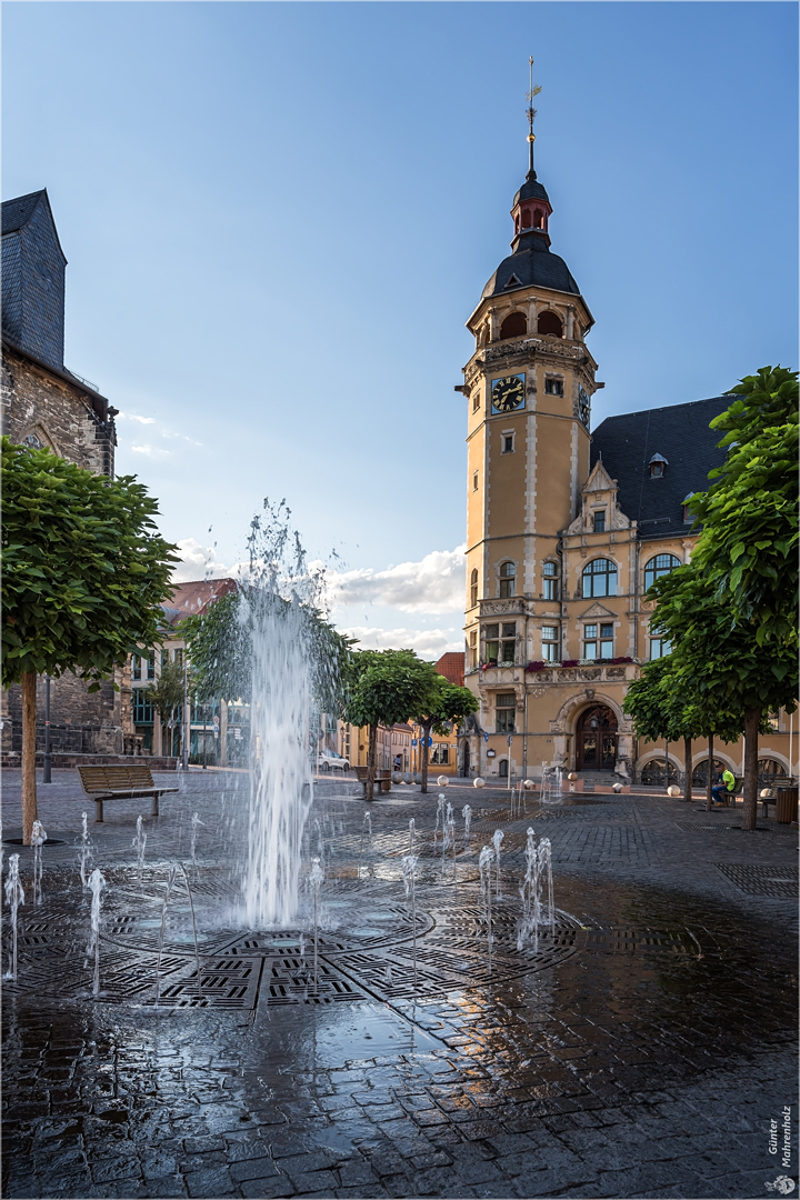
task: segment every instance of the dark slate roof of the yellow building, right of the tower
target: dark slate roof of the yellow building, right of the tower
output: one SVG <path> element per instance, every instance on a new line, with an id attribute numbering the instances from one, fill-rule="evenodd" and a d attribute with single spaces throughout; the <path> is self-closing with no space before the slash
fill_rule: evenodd
<path id="1" fill-rule="evenodd" d="M 603 467 L 619 484 L 616 503 L 638 522 L 642 538 L 663 538 L 688 530 L 684 500 L 704 492 L 709 472 L 724 460 L 717 443 L 724 436 L 709 424 L 733 403 L 733 396 L 712 396 L 691 404 L 651 408 L 644 413 L 607 416 L 591 436 L 591 466 Z M 650 478 L 650 460 L 667 460 L 664 474 Z"/>

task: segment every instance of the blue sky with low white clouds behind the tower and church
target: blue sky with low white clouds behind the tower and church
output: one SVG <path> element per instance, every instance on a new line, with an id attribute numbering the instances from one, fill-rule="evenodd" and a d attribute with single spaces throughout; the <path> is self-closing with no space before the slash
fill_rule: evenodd
<path id="1" fill-rule="evenodd" d="M 604 415 L 796 366 L 794 4 L 4 5 L 4 198 L 47 186 L 66 362 L 187 574 L 285 497 L 342 624 L 461 646 L 464 320 L 529 54 Z M 209 532 L 211 530 L 211 532 Z M 215 546 L 216 544 L 216 546 Z M 192 553 L 194 557 L 192 557 Z M 422 564 L 415 565 L 415 564 Z"/>

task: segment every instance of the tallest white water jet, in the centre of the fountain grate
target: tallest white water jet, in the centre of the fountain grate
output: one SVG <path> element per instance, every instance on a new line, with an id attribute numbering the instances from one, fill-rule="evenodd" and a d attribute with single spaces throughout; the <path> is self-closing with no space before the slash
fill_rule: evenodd
<path id="1" fill-rule="evenodd" d="M 249 647 L 251 794 L 240 923 L 290 924 L 312 800 L 312 709 L 326 710 L 338 655 L 320 622 L 323 576 L 309 570 L 289 510 L 264 502 L 240 582 L 240 636 Z M 327 709 L 330 710 L 330 709 Z"/>

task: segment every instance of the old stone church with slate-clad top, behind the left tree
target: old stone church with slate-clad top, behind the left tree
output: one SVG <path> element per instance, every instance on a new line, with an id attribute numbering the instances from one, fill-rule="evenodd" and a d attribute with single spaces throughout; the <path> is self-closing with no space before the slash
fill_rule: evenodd
<path id="1" fill-rule="evenodd" d="M 2 432 L 98 475 L 114 475 L 116 409 L 64 365 L 65 278 L 46 191 L 2 205 Z M 44 679 L 37 680 L 37 750 L 44 745 Z M 130 689 L 124 670 L 90 692 L 77 676 L 50 680 L 54 754 L 125 751 Z M 22 750 L 20 689 L 2 696 L 2 749 Z"/>

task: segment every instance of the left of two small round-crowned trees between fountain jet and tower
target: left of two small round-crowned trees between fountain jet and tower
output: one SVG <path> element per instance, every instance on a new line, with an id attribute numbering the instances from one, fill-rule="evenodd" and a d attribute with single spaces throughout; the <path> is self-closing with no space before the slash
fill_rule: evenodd
<path id="1" fill-rule="evenodd" d="M 365 796 L 373 797 L 378 726 L 391 728 L 435 706 L 440 676 L 414 650 L 357 650 L 344 672 L 342 718 L 368 728 Z"/>

